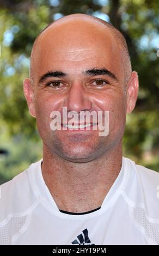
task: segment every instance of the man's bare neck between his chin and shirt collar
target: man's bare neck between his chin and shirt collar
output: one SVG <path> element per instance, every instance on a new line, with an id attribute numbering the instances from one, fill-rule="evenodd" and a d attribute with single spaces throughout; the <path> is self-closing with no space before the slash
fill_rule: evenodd
<path id="1" fill-rule="evenodd" d="M 99 208 L 122 166 L 122 143 L 87 163 L 51 154 L 44 145 L 42 175 L 58 208 L 86 212 Z"/>

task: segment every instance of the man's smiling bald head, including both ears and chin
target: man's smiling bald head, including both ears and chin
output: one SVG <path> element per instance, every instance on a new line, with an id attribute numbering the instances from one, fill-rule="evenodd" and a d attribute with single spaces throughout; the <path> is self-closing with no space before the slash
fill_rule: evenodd
<path id="1" fill-rule="evenodd" d="M 87 162 L 121 144 L 138 79 L 123 35 L 107 22 L 75 14 L 53 22 L 36 38 L 24 91 L 47 150 L 69 161 Z M 50 114 L 62 113 L 63 107 L 77 113 L 109 111 L 109 135 L 52 131 Z"/>

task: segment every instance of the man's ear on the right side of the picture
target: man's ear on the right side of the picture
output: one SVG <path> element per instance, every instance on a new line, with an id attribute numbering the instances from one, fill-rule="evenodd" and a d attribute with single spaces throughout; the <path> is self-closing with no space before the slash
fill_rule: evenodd
<path id="1" fill-rule="evenodd" d="M 136 105 L 138 96 L 138 75 L 136 71 L 131 73 L 129 82 L 127 83 L 127 110 L 126 113 L 131 113 Z"/>

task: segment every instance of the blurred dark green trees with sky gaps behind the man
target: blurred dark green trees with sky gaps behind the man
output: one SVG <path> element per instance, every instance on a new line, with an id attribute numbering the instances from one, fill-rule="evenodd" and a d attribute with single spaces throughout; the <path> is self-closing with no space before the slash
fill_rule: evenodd
<path id="1" fill-rule="evenodd" d="M 36 36 L 48 23 L 72 13 L 101 17 L 124 34 L 140 83 L 136 109 L 127 118 L 124 154 L 159 170 L 159 65 L 156 55 L 159 2 L 156 0 L 0 0 L 1 139 L 5 130 L 10 140 L 22 134 L 23 141 L 26 136 L 38 143 L 35 119 L 28 113 L 22 81 L 28 76 L 30 51 Z M 11 163 L 13 159 L 6 161 Z"/>

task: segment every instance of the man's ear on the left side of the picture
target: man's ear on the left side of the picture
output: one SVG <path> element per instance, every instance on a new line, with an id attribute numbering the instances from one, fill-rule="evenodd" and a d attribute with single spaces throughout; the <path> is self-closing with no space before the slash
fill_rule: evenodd
<path id="1" fill-rule="evenodd" d="M 35 102 L 34 102 L 34 89 L 29 78 L 25 78 L 23 81 L 23 91 L 26 97 L 29 113 L 32 117 L 36 117 L 35 114 Z"/>

